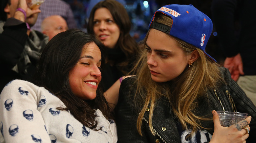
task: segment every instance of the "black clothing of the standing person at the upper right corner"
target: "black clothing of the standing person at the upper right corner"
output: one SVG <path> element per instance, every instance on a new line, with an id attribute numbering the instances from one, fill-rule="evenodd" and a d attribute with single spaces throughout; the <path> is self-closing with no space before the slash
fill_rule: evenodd
<path id="1" fill-rule="evenodd" d="M 211 4 L 213 25 L 224 55 L 240 53 L 245 75 L 256 75 L 255 9 L 255 0 L 212 0 Z"/>

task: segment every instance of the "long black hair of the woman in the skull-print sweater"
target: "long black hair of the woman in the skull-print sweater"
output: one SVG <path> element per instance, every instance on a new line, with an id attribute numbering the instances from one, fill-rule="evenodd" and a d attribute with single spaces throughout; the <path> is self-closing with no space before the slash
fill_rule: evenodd
<path id="1" fill-rule="evenodd" d="M 82 100 L 76 97 L 69 84 L 69 71 L 78 62 L 83 46 L 91 42 L 99 47 L 101 63 L 104 64 L 104 45 L 94 35 L 75 29 L 57 34 L 42 52 L 34 76 L 34 84 L 45 87 L 66 105 L 65 108 L 58 107 L 58 109 L 69 111 L 83 125 L 95 129 L 97 122 L 94 109 L 100 109 L 107 119 L 111 118 L 101 84 L 97 88 L 94 100 Z"/>

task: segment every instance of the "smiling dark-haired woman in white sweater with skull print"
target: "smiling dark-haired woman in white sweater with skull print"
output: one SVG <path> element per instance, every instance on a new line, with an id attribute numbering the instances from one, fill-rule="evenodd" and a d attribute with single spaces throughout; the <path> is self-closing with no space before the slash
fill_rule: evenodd
<path id="1" fill-rule="evenodd" d="M 117 142 L 116 124 L 100 88 L 103 46 L 75 29 L 53 37 L 34 82 L 13 80 L 4 87 L 0 141 Z"/>

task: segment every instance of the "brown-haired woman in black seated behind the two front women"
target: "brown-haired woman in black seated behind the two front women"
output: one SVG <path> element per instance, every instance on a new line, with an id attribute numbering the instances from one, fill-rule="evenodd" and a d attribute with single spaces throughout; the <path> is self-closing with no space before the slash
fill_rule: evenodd
<path id="1" fill-rule="evenodd" d="M 137 42 L 130 35 L 131 21 L 122 4 L 116 0 L 97 3 L 90 13 L 88 33 L 93 33 L 106 46 L 106 66 L 102 83 L 107 91 L 115 82 L 115 93 L 107 94 L 110 103 L 117 103 L 120 82 L 133 68 L 137 57 Z M 119 80 L 118 80 L 119 79 Z M 118 81 L 117 81 L 118 80 Z"/>

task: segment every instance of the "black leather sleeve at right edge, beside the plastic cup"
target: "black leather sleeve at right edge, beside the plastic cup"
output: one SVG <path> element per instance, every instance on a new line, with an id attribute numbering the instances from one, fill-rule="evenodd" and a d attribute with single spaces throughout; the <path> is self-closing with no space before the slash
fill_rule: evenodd
<path id="1" fill-rule="evenodd" d="M 230 94 L 235 102 L 238 112 L 248 113 L 251 116 L 251 122 L 249 124 L 251 130 L 249 137 L 246 139 L 246 143 L 255 143 L 256 140 L 256 107 L 252 101 L 245 95 L 245 92 L 238 86 L 238 84 L 231 79 L 231 75 L 228 69 L 224 69 L 224 77 L 230 88 Z"/>

